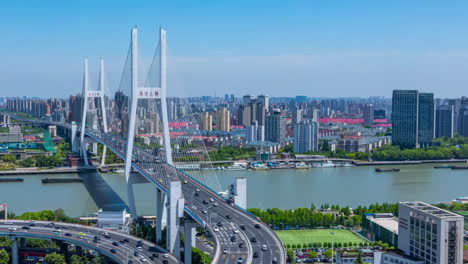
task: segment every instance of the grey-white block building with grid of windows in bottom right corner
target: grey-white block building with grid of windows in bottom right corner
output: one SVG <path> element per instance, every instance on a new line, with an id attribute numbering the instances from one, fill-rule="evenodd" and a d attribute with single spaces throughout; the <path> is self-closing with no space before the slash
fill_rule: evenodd
<path id="1" fill-rule="evenodd" d="M 398 205 L 398 248 L 426 263 L 463 263 L 463 216 L 423 202 Z"/>

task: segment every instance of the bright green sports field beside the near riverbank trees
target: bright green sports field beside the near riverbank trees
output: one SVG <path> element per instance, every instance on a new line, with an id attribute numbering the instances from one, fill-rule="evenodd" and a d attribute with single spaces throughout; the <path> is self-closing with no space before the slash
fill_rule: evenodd
<path id="1" fill-rule="evenodd" d="M 327 243 L 333 241 L 335 243 L 361 243 L 366 242 L 353 232 L 344 229 L 312 229 L 312 230 L 280 230 L 275 231 L 278 237 L 283 241 L 283 244 L 310 244 L 310 243 Z"/>

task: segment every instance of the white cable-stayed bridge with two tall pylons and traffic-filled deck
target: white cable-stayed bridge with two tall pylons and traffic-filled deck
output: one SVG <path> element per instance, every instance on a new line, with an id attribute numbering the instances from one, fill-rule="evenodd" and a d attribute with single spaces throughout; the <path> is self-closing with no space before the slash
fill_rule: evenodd
<path id="1" fill-rule="evenodd" d="M 72 150 L 80 152 L 86 165 L 89 164 L 88 153 L 97 153 L 97 144 L 104 146 L 102 162 L 107 151 L 123 159 L 128 206 L 133 217 L 137 216 L 133 193 L 133 185 L 137 182 L 130 173 L 131 169 L 152 183 L 156 197 L 156 240 L 161 241 L 162 228 L 166 226 L 167 250 L 180 259 L 180 234 L 183 233 L 185 257 L 181 261 L 184 263 L 192 263 L 191 247 L 195 245 L 197 226 L 206 228 L 216 242 L 213 263 L 285 263 L 285 250 L 275 233 L 245 210 L 245 179 L 236 179 L 228 199 L 219 194 L 222 189 L 214 170 L 197 172 L 181 169 L 175 164 L 176 159 L 185 164 L 194 163 L 199 161 L 199 156 L 183 150 L 173 156 L 174 145 L 171 140 L 184 149 L 184 138 L 171 135 L 169 127 L 166 31 L 160 30 L 160 41 L 144 82 L 138 78 L 137 32 L 137 28 L 131 31 L 131 44 L 118 87 L 118 97 L 112 100 L 105 94 L 102 59 L 98 89 L 89 88 L 88 61 L 85 59 L 80 122 L 59 123 L 16 118 L 67 129 Z M 135 136 L 141 123 L 158 127 L 156 134 L 162 144 L 157 144 L 157 151 L 136 144 Z M 192 132 L 196 133 L 196 130 Z M 199 175 L 195 175 L 197 173 Z"/>

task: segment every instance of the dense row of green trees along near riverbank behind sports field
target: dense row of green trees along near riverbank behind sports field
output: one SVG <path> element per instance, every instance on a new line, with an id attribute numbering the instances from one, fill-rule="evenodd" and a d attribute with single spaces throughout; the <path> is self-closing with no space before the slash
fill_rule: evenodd
<path id="1" fill-rule="evenodd" d="M 297 209 L 248 209 L 249 212 L 260 217 L 265 223 L 284 227 L 299 226 L 306 228 L 315 227 L 332 227 L 332 226 L 346 226 L 354 227 L 360 226 L 362 215 L 365 213 L 393 213 L 398 215 L 398 204 L 371 204 L 368 207 L 358 206 L 351 212 L 349 207 L 340 207 L 338 205 L 322 205 L 321 209 L 331 209 L 338 212 L 338 216 L 334 216 L 327 211 L 318 211 L 312 204 L 310 208 L 297 208 Z M 352 214 L 353 213 L 353 214 Z"/>

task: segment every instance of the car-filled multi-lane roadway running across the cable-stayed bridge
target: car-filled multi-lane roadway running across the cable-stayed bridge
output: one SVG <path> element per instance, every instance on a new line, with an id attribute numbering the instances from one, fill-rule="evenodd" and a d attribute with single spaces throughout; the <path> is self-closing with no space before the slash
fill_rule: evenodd
<path id="1" fill-rule="evenodd" d="M 70 129 L 69 124 L 24 119 L 22 121 L 54 124 Z M 88 128 L 85 134 L 124 159 L 124 139 Z M 170 181 L 182 182 L 185 212 L 205 227 L 216 242 L 214 263 L 286 262 L 284 247 L 273 230 L 201 182 L 137 146 L 134 146 L 132 167 L 162 190 L 168 190 Z"/>

